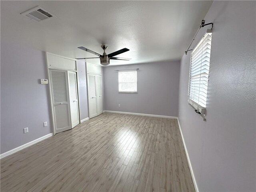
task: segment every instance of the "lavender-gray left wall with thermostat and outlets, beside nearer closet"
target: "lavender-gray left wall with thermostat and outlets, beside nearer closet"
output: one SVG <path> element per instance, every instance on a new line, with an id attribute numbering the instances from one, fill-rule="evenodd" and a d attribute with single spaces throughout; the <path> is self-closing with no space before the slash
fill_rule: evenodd
<path id="1" fill-rule="evenodd" d="M 44 52 L 1 40 L 1 154 L 52 132 L 41 78 L 47 78 Z"/>

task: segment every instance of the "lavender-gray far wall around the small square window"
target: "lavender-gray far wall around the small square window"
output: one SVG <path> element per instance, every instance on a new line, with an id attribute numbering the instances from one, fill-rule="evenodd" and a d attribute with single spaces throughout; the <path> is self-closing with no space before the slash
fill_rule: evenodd
<path id="1" fill-rule="evenodd" d="M 138 70 L 138 93 L 118 93 L 118 72 Z M 105 110 L 177 116 L 180 62 L 103 67 Z M 118 107 L 121 104 L 121 107 Z"/>

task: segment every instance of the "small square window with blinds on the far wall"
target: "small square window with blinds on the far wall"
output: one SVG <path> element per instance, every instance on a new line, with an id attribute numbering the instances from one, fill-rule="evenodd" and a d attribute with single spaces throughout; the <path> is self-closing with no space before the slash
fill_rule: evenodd
<path id="1" fill-rule="evenodd" d="M 137 93 L 137 70 L 118 71 L 118 91 Z"/>

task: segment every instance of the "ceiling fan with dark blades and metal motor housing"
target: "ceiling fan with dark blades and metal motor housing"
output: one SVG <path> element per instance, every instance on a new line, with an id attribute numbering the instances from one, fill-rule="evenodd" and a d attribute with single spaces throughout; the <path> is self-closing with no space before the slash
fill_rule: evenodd
<path id="1" fill-rule="evenodd" d="M 114 59 L 114 60 L 130 60 L 129 58 L 120 58 L 120 57 L 114 57 L 116 55 L 119 55 L 121 53 L 124 53 L 126 51 L 129 51 L 129 49 L 127 48 L 123 48 L 123 49 L 120 49 L 118 51 L 115 51 L 113 53 L 110 53 L 110 54 L 106 54 L 105 50 L 108 48 L 107 45 L 101 45 L 101 48 L 104 50 L 103 54 L 100 55 L 90 49 L 87 49 L 85 47 L 78 47 L 79 49 L 82 49 L 84 51 L 87 51 L 89 53 L 92 53 L 94 55 L 97 55 L 99 57 L 88 57 L 88 58 L 76 58 L 76 59 L 94 59 L 94 58 L 100 58 L 100 64 L 106 66 L 106 65 L 109 65 L 110 64 L 110 59 Z"/>

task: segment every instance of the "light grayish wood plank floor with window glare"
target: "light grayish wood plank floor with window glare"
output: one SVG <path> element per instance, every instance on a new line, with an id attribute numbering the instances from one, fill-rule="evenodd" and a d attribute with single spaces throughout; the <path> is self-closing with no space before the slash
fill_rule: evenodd
<path id="1" fill-rule="evenodd" d="M 194 190 L 174 119 L 104 113 L 1 160 L 1 192 Z"/>

